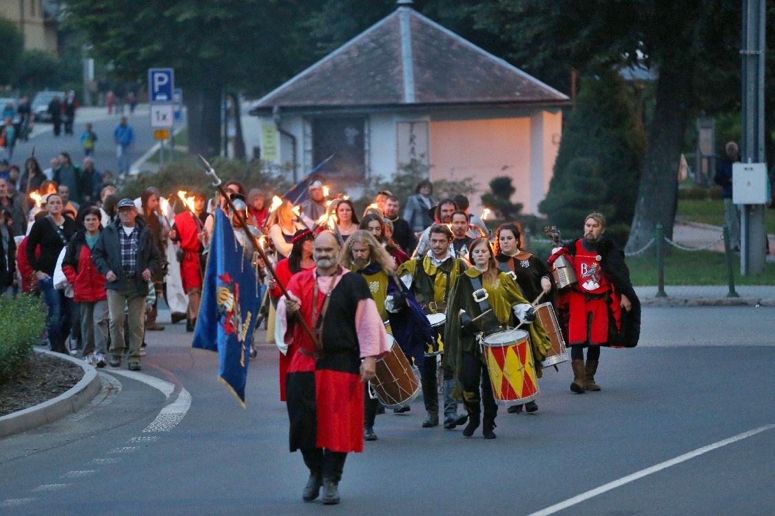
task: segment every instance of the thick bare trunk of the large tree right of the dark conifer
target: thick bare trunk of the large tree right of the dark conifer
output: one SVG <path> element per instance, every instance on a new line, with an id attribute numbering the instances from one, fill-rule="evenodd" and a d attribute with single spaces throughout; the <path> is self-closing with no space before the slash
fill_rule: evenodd
<path id="1" fill-rule="evenodd" d="M 678 201 L 678 163 L 684 145 L 688 106 L 691 104 L 692 66 L 688 60 L 666 60 L 656 86 L 654 118 L 649 128 L 649 148 L 643 160 L 635 216 L 632 218 L 627 252 L 644 248 L 662 224 L 673 238 Z M 649 248 L 653 254 L 654 247 Z"/>

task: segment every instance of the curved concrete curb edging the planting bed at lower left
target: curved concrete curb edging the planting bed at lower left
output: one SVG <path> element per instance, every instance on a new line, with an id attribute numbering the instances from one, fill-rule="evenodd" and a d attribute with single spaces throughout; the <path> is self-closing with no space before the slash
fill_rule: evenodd
<path id="1" fill-rule="evenodd" d="M 26 432 L 38 426 L 57 421 L 57 419 L 64 418 L 66 415 L 71 415 L 88 402 L 91 402 L 102 388 L 102 382 L 99 380 L 97 370 L 86 364 L 86 362 L 40 348 L 36 348 L 35 352 L 71 361 L 84 370 L 84 378 L 81 378 L 81 381 L 78 381 L 72 388 L 56 398 L 40 403 L 40 405 L 2 416 L 0 418 L 0 438 Z"/>

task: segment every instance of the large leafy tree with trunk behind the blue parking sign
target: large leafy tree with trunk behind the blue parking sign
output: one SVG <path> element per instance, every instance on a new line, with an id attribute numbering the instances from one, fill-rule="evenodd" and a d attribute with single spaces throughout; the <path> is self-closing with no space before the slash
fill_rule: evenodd
<path id="1" fill-rule="evenodd" d="M 298 20 L 312 0 L 68 0 L 67 26 L 126 80 L 175 70 L 184 88 L 191 152 L 217 155 L 222 95 L 260 94 L 308 63 Z"/>

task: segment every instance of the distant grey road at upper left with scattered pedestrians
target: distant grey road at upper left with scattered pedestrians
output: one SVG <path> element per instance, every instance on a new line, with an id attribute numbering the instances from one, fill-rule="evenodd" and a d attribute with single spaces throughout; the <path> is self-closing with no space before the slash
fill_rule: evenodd
<path id="1" fill-rule="evenodd" d="M 130 151 L 131 159 L 135 161 L 156 143 L 153 139 L 153 129 L 150 128 L 148 105 L 140 104 L 134 114 L 129 114 L 129 108 L 126 108 L 124 114 L 135 132 L 135 145 Z M 51 158 L 63 151 L 70 154 L 74 163 L 82 165 L 84 152 L 81 148 L 81 132 L 84 131 L 86 122 L 91 122 L 98 138 L 95 144 L 95 165 L 99 170 L 111 170 L 117 176 L 118 160 L 115 157 L 113 129 L 119 123 L 119 117 L 115 112 L 108 115 L 105 108 L 84 108 L 76 112 L 74 135 L 65 136 L 63 128 L 58 137 L 53 135 L 51 124 L 40 122 L 36 124 L 29 142 L 19 142 L 16 145 L 13 162 L 23 167 L 24 160 L 32 155 L 34 148 L 35 157 L 44 169 L 49 166 Z"/>

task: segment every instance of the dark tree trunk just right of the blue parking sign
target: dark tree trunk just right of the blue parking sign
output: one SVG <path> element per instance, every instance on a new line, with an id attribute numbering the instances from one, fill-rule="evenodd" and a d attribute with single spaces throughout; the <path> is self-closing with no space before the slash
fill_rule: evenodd
<path id="1" fill-rule="evenodd" d="M 188 97 L 188 150 L 212 158 L 221 149 L 221 89 L 203 86 Z"/>

